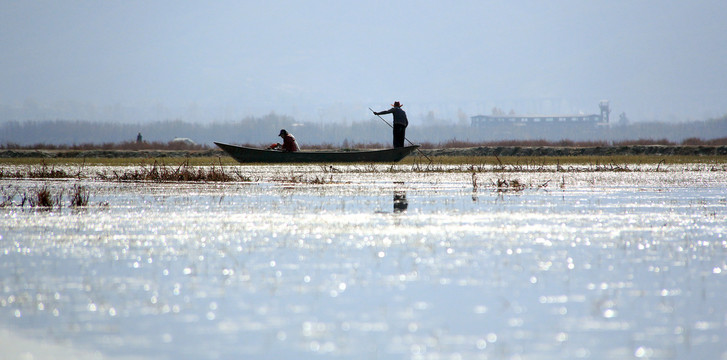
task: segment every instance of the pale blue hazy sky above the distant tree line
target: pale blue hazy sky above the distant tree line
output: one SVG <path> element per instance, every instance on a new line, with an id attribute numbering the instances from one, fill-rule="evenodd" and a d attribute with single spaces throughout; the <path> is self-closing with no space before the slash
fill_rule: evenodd
<path id="1" fill-rule="evenodd" d="M 612 121 L 700 120 L 727 114 L 726 17 L 724 0 L 0 0 L 0 121 L 340 122 L 397 100 L 415 122 L 600 100 Z"/>

